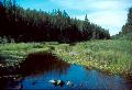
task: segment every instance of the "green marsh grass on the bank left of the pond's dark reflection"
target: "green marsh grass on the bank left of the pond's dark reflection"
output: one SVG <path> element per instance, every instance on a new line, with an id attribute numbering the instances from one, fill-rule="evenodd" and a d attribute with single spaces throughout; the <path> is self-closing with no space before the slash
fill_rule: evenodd
<path id="1" fill-rule="evenodd" d="M 48 50 L 48 47 L 40 43 L 0 44 L 0 56 L 6 58 L 4 67 L 19 65 L 28 54 L 44 50 Z"/>

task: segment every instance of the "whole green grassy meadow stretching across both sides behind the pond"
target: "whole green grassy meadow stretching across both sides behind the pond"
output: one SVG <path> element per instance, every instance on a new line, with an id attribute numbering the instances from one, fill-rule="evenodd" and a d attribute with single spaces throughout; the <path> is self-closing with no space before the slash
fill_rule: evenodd
<path id="1" fill-rule="evenodd" d="M 110 74 L 132 75 L 132 42 L 127 40 L 88 41 L 74 46 L 58 43 L 0 44 L 0 55 L 13 58 L 8 59 L 6 66 L 19 65 L 28 54 L 45 50 L 70 64 Z"/>

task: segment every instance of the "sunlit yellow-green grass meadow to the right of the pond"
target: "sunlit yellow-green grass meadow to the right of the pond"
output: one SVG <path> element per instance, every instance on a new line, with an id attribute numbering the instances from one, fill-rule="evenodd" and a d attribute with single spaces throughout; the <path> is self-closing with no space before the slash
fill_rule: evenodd
<path id="1" fill-rule="evenodd" d="M 72 64 L 112 74 L 132 74 L 131 41 L 109 40 L 77 43 L 72 47 L 72 52 L 64 50 L 63 53 L 56 52 L 56 54 Z"/>

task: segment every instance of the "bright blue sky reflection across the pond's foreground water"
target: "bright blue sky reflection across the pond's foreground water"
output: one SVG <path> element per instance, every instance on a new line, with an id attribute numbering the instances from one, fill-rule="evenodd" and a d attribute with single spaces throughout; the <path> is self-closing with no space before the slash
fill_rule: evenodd
<path id="1" fill-rule="evenodd" d="M 73 87 L 55 87 L 48 83 L 51 79 L 72 81 Z M 34 83 L 35 82 L 35 83 Z M 120 76 L 108 76 L 97 70 L 86 70 L 81 66 L 70 65 L 66 75 L 46 72 L 37 77 L 25 77 L 21 85 L 23 89 L 96 89 L 96 90 L 131 90 L 131 82 Z"/>

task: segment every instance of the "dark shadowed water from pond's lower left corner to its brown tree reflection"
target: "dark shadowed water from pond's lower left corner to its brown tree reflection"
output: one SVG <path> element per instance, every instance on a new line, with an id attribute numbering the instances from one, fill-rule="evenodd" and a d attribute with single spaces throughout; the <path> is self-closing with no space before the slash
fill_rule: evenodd
<path id="1" fill-rule="evenodd" d="M 28 76 L 35 77 L 53 70 L 59 75 L 66 74 L 69 66 L 70 65 L 68 63 L 62 60 L 52 53 L 32 53 L 26 56 L 25 60 L 23 60 L 23 63 L 20 64 L 20 67 L 14 71 L 0 69 L 1 74 L 3 74 L 0 76 L 0 89 L 15 89 L 15 87 L 19 86 L 19 82 Z"/>

